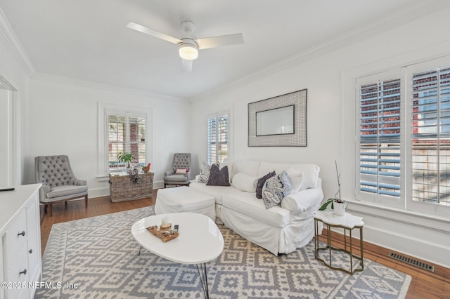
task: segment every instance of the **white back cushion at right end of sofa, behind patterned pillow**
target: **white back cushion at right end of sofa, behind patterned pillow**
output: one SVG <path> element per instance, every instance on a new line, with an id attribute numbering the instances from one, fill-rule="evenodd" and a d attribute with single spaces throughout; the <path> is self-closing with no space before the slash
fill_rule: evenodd
<path id="1" fill-rule="evenodd" d="M 281 173 L 282 171 L 293 168 L 295 171 L 304 174 L 304 181 L 300 190 L 305 190 L 308 188 L 314 188 L 319 182 L 319 171 L 320 168 L 316 164 L 282 164 L 282 163 L 272 163 L 272 162 L 261 162 L 259 166 L 258 176 L 265 175 L 269 171 L 275 171 L 276 173 Z"/>

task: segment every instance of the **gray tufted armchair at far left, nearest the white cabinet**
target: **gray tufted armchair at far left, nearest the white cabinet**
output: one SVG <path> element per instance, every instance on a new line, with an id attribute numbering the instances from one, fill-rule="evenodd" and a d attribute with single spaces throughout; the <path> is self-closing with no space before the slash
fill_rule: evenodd
<path id="1" fill-rule="evenodd" d="M 69 157 L 40 156 L 34 158 L 34 175 L 36 182 L 41 182 L 39 189 L 39 201 L 45 204 L 45 211 L 49 209 L 51 216 L 51 205 L 84 197 L 87 208 L 87 183 L 86 180 L 78 180 L 70 167 Z"/>

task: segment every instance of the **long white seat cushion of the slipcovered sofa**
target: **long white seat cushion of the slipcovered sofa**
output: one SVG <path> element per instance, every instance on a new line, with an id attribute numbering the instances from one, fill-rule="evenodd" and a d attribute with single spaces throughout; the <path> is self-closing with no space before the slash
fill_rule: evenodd
<path id="1" fill-rule="evenodd" d="M 290 222 L 288 210 L 280 206 L 266 210 L 262 200 L 257 199 L 255 194 L 250 192 L 224 194 L 223 204 L 230 210 L 248 215 L 249 219 L 253 218 L 248 225 L 258 225 L 257 221 L 260 221 L 274 227 L 285 227 Z"/>

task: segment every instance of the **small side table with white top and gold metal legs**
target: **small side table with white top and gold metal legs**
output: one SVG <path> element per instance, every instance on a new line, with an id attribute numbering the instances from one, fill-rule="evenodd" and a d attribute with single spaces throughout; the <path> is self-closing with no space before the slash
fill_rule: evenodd
<path id="1" fill-rule="evenodd" d="M 320 260 L 324 265 L 333 269 L 340 270 L 348 274 L 354 274 L 354 272 L 360 272 L 364 270 L 364 257 L 363 257 L 363 226 L 364 222 L 363 218 L 354 216 L 349 213 L 345 213 L 342 216 L 335 215 L 332 211 L 317 211 L 314 214 L 314 258 L 316 260 Z M 326 246 L 319 247 L 319 221 L 323 223 L 324 227 L 327 230 L 326 236 Z M 338 227 L 344 229 L 344 248 L 337 248 L 331 246 L 331 227 Z M 353 242 L 352 242 L 352 230 L 359 229 L 359 248 L 360 253 L 359 256 L 353 253 Z M 347 230 L 349 231 L 349 244 L 347 244 Z M 348 248 L 347 248 L 348 247 Z M 328 250 L 328 263 L 326 260 L 319 258 L 319 251 L 327 251 Z M 347 253 L 350 258 L 350 267 L 349 270 L 344 269 L 342 267 L 335 267 L 332 265 L 332 256 L 333 252 L 342 251 Z M 359 260 L 359 267 L 356 265 L 354 267 L 353 260 Z"/>

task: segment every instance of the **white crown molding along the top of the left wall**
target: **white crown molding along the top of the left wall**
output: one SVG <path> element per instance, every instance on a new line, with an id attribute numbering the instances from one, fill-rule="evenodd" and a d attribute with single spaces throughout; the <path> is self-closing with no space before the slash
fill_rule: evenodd
<path id="1" fill-rule="evenodd" d="M 34 65 L 32 64 L 30 58 L 27 53 L 23 49 L 22 44 L 20 44 L 19 39 L 15 36 L 11 25 L 6 19 L 3 11 L 0 8 L 0 41 L 4 46 L 8 49 L 8 51 L 20 62 L 23 66 L 23 69 L 27 74 L 34 74 L 36 69 L 34 69 Z"/>

